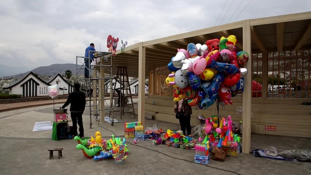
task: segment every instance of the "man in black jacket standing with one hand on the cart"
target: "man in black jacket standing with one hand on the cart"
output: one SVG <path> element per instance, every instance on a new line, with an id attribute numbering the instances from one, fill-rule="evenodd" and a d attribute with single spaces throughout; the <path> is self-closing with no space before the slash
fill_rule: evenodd
<path id="1" fill-rule="evenodd" d="M 69 94 L 66 103 L 61 108 L 66 108 L 69 104 L 72 119 L 72 133 L 74 133 L 74 136 L 84 137 L 82 114 L 85 109 L 86 100 L 84 92 L 80 91 L 79 83 L 73 85 L 73 92 Z M 77 132 L 77 122 L 79 125 L 79 135 Z"/>

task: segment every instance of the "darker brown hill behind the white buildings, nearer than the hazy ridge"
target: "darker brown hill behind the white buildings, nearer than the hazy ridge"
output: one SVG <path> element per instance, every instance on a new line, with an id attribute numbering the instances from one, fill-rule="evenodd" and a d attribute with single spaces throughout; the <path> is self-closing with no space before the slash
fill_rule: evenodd
<path id="1" fill-rule="evenodd" d="M 78 68 L 80 68 L 81 65 L 78 65 Z M 16 68 L 14 68 L 16 69 Z M 72 75 L 76 75 L 76 72 L 77 72 L 77 66 L 76 64 L 71 64 L 71 63 L 68 63 L 68 64 L 52 64 L 52 65 L 49 65 L 49 66 L 41 66 L 41 67 L 37 67 L 33 70 L 31 70 L 32 72 L 34 73 L 37 73 L 38 75 L 44 75 L 44 76 L 53 76 L 54 74 L 56 73 L 64 73 L 66 70 L 71 70 L 72 71 Z M 79 70 L 78 70 L 79 71 Z M 20 73 L 20 74 L 17 74 L 17 75 L 12 75 L 11 76 L 6 76 L 6 78 L 10 78 L 10 77 L 13 77 L 13 76 L 16 76 L 17 78 L 25 75 L 25 74 L 28 74 L 30 71 L 27 71 L 27 72 L 24 72 L 24 73 Z M 84 70 L 81 69 L 79 71 L 79 75 L 83 75 L 84 74 Z M 6 74 L 6 75 L 10 75 L 10 74 Z"/>

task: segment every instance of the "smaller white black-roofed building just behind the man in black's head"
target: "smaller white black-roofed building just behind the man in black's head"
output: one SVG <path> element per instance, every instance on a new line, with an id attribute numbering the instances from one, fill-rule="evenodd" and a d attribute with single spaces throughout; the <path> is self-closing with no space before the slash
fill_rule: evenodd
<path id="1" fill-rule="evenodd" d="M 58 84 L 61 90 L 60 94 L 70 94 L 73 91 L 73 85 L 71 85 L 66 79 L 63 78 L 61 74 L 55 74 L 48 81 L 48 84 L 55 85 Z"/>

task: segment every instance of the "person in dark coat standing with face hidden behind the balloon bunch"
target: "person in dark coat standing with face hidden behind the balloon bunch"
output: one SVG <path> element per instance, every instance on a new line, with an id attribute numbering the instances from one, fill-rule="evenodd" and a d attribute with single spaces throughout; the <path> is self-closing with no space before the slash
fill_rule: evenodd
<path id="1" fill-rule="evenodd" d="M 181 111 L 183 111 L 183 114 L 184 114 L 184 117 L 179 118 L 181 130 L 183 131 L 184 135 L 186 135 L 186 130 L 187 130 L 187 135 L 191 135 L 190 120 L 191 120 L 192 108 L 191 106 L 189 106 L 187 100 L 182 99 L 175 103 L 174 112 L 176 113 L 176 112 L 181 112 Z"/>

